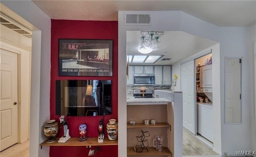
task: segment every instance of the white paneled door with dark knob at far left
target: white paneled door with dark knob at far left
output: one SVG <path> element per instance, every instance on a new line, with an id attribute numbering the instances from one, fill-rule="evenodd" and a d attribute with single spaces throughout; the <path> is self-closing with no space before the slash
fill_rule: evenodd
<path id="1" fill-rule="evenodd" d="M 18 55 L 0 49 L 0 151 L 18 142 Z"/>

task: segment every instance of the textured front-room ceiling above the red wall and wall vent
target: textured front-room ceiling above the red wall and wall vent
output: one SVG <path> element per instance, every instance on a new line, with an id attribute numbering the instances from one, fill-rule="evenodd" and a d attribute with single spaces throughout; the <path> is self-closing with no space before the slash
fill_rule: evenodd
<path id="1" fill-rule="evenodd" d="M 252 26 L 256 0 L 32 0 L 51 19 L 117 21 L 118 11 L 181 10 L 217 26 Z"/>

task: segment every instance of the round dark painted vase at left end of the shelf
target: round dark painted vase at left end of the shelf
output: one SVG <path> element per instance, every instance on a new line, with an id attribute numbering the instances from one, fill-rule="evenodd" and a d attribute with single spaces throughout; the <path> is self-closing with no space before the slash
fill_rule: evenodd
<path id="1" fill-rule="evenodd" d="M 59 131 L 59 124 L 55 120 L 49 120 L 44 125 L 44 135 L 48 138 L 47 143 L 52 143 L 55 141 L 57 133 Z"/>

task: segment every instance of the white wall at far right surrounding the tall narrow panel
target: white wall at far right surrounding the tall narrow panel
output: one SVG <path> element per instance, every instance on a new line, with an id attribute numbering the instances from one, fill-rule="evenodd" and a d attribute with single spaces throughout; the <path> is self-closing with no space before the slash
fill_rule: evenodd
<path id="1" fill-rule="evenodd" d="M 250 113 L 254 102 L 253 93 L 250 92 L 252 90 L 251 84 L 253 84 L 253 57 L 247 46 L 249 39 L 248 27 L 221 27 L 219 34 L 221 76 L 224 76 L 225 57 L 242 57 L 242 124 L 224 124 L 224 77 L 221 77 L 220 81 L 222 152 L 236 155 L 236 150 L 251 149 L 250 121 L 252 120 L 248 113 Z"/>

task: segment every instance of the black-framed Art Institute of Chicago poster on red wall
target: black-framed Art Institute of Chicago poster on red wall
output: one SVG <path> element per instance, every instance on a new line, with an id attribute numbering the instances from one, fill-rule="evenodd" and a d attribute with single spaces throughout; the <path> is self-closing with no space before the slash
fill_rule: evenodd
<path id="1" fill-rule="evenodd" d="M 113 40 L 59 39 L 59 76 L 112 76 Z"/>

